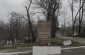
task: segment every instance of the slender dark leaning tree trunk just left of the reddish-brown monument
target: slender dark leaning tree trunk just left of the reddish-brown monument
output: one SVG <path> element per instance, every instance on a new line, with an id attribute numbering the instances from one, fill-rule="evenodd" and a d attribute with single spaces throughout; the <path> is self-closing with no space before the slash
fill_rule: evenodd
<path id="1" fill-rule="evenodd" d="M 27 12 L 27 18 L 28 18 L 28 28 L 29 28 L 28 29 L 28 37 L 31 38 L 31 42 L 34 41 L 34 39 L 35 39 L 33 26 L 32 26 L 32 22 L 31 22 L 31 18 L 30 18 L 30 13 L 29 13 L 32 1 L 33 0 L 30 0 L 29 1 L 29 5 L 25 7 L 26 8 L 26 12 Z"/>

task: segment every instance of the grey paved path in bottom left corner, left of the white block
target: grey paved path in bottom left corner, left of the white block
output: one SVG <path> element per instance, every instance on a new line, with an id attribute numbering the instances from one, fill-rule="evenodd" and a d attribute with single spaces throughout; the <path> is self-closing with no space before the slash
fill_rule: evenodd
<path id="1" fill-rule="evenodd" d="M 0 50 L 0 55 L 31 55 L 32 48 Z"/>

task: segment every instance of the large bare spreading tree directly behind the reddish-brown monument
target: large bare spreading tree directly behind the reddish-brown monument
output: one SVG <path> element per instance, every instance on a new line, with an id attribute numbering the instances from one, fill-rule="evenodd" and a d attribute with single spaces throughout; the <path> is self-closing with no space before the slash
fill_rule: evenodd
<path id="1" fill-rule="evenodd" d="M 60 0 L 39 0 L 37 1 L 37 8 L 42 10 L 42 14 L 47 21 L 52 21 L 52 37 L 55 37 L 58 26 L 58 16 L 60 11 Z M 38 12 L 39 13 L 39 12 Z"/>

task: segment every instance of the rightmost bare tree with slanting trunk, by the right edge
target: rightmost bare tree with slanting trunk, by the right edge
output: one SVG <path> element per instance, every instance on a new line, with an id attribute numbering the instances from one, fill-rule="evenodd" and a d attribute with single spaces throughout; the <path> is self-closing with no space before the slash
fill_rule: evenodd
<path id="1" fill-rule="evenodd" d="M 81 35 L 81 24 L 82 24 L 82 19 L 83 19 L 83 7 L 84 7 L 84 4 L 85 4 L 85 1 L 84 0 L 79 0 L 79 10 L 78 12 L 76 13 L 76 16 L 75 16 L 75 19 L 74 19 L 74 22 L 73 22 L 73 25 L 75 26 L 75 22 L 76 22 L 76 18 L 79 14 L 79 29 L 78 29 L 78 34 Z M 74 27 L 75 28 L 75 27 Z"/>

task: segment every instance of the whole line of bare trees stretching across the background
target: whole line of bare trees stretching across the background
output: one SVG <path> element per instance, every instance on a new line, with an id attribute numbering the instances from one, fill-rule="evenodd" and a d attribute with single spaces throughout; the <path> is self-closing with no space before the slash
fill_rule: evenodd
<path id="1" fill-rule="evenodd" d="M 66 13 L 61 12 L 62 8 L 62 0 L 29 0 L 29 5 L 25 6 L 25 12 L 26 16 L 17 13 L 17 12 L 11 12 L 9 21 L 7 23 L 4 23 L 3 21 L 0 22 L 0 38 L 11 40 L 13 43 L 16 40 L 19 41 L 26 41 L 26 39 L 29 39 L 30 42 L 34 42 L 37 37 L 37 25 L 34 24 L 34 20 L 32 20 L 30 14 L 30 8 L 32 4 L 36 6 L 36 9 L 41 10 L 41 12 L 37 11 L 35 14 L 42 14 L 46 21 L 52 22 L 52 30 L 51 30 L 51 36 L 54 38 L 55 34 L 58 29 L 60 29 L 59 26 L 59 16 L 63 14 L 64 17 L 64 33 L 66 32 L 66 20 L 69 19 L 69 17 L 65 17 Z M 78 26 L 78 34 L 81 35 L 81 27 L 82 27 L 82 20 L 83 20 L 83 10 L 84 10 L 84 0 L 70 0 L 70 10 L 71 10 L 71 16 L 72 16 L 72 25 L 71 30 L 72 34 L 75 32 L 75 23 L 77 21 L 77 18 L 79 20 L 79 26 Z M 79 3 L 79 10 L 74 16 L 74 3 Z M 63 19 L 63 18 L 62 18 Z M 69 26 L 70 27 L 70 26 Z M 29 42 L 28 40 L 26 42 Z"/>

